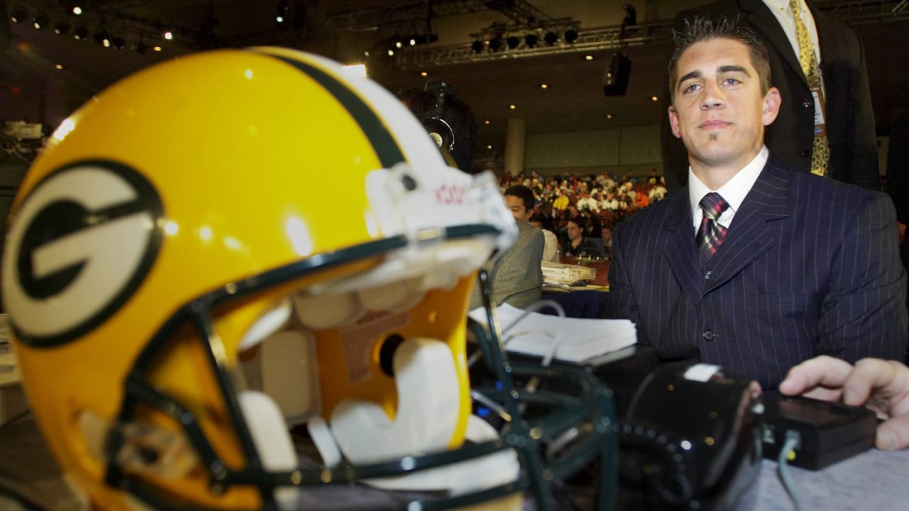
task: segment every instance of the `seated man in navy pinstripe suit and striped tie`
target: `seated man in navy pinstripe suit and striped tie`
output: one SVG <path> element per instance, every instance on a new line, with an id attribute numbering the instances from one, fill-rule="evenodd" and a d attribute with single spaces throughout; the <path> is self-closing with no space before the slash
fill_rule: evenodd
<path id="1" fill-rule="evenodd" d="M 697 19 L 676 35 L 669 69 L 688 186 L 616 225 L 605 316 L 633 320 L 662 361 L 724 366 L 765 391 L 817 355 L 904 360 L 890 199 L 769 154 L 764 126 L 781 98 L 750 29 Z M 709 192 L 724 204 L 715 224 L 699 206 Z M 715 234 L 699 248 L 702 222 Z"/>

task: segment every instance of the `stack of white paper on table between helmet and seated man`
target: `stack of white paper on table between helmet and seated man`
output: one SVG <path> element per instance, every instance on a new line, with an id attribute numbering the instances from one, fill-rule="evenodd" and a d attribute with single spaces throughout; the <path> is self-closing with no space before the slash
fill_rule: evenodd
<path id="1" fill-rule="evenodd" d="M 505 350 L 541 356 L 544 360 L 554 357 L 565 362 L 584 362 L 637 342 L 634 323 L 627 319 L 547 316 L 507 304 L 496 307 L 496 311 Z M 472 310 L 470 316 L 486 325 L 483 307 Z"/>

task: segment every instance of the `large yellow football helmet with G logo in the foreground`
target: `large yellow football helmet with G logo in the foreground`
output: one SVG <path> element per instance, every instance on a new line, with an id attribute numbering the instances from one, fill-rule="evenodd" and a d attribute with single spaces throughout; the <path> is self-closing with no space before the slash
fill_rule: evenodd
<path id="1" fill-rule="evenodd" d="M 461 505 L 553 476 L 519 471 L 538 425 L 505 441 L 471 413 L 468 293 L 515 231 L 494 178 L 446 166 L 379 85 L 219 50 L 65 120 L 16 198 L 2 291 L 35 417 L 99 508 L 298 508 L 363 479 Z M 433 468 L 469 463 L 457 487 Z"/>

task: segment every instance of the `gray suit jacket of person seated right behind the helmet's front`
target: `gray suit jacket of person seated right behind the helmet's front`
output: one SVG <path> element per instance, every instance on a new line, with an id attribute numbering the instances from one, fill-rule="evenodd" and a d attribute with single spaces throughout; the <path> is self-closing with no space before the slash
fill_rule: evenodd
<path id="1" fill-rule="evenodd" d="M 514 245 L 494 255 L 484 264 L 493 286 L 493 301 L 526 308 L 540 301 L 543 286 L 543 231 L 524 220 L 517 223 L 517 240 Z M 474 284 L 470 294 L 470 309 L 482 306 L 480 287 Z"/>

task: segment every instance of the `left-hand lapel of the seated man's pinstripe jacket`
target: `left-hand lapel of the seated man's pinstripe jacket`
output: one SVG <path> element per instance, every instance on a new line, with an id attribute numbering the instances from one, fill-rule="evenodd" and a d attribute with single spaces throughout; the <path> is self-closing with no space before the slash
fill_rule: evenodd
<path id="1" fill-rule="evenodd" d="M 697 303 L 701 301 L 702 294 L 701 261 L 694 245 L 694 220 L 688 204 L 688 188 L 669 195 L 667 200 L 673 200 L 674 204 L 666 216 L 661 250 L 679 286 Z"/>

